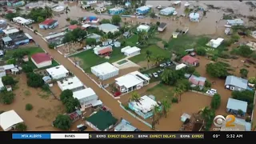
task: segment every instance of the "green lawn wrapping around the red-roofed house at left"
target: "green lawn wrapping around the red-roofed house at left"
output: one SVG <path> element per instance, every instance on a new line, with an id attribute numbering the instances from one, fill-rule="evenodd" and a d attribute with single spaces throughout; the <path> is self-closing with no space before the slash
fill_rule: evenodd
<path id="1" fill-rule="evenodd" d="M 12 58 L 12 55 L 14 54 L 15 51 L 22 51 L 22 50 L 27 50 L 29 51 L 29 57 L 31 57 L 31 55 L 33 54 L 37 54 L 37 53 L 44 53 L 45 51 L 42 50 L 40 47 L 28 47 L 28 48 L 22 48 L 22 49 L 16 49 L 16 50 L 7 50 L 5 58 L 4 59 L 10 59 Z M 34 65 L 34 63 L 30 60 L 29 62 L 26 62 L 26 64 L 33 66 L 34 69 L 37 69 L 37 67 Z M 53 66 L 58 66 L 58 62 L 56 62 L 55 60 L 53 60 L 52 65 L 51 66 L 46 66 L 43 67 L 41 69 L 46 69 L 46 68 L 50 68 Z"/>

